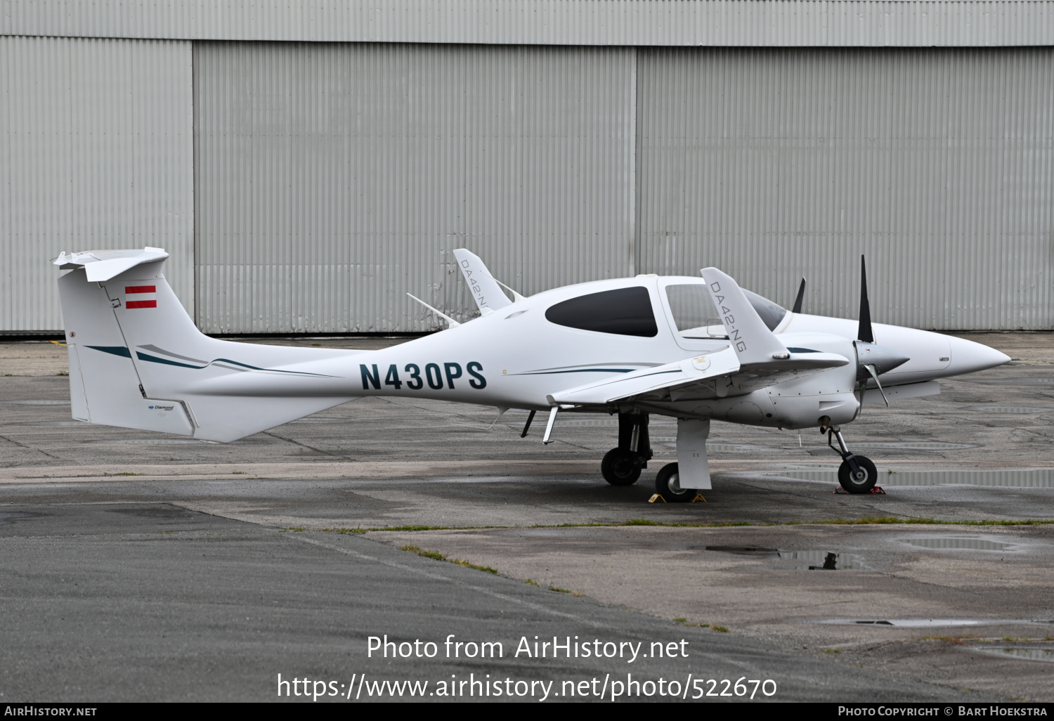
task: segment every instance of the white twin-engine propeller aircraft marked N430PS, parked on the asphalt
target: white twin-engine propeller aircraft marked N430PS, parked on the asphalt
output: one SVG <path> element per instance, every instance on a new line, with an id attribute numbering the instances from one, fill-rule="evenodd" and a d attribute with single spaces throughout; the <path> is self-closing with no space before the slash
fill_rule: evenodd
<path id="1" fill-rule="evenodd" d="M 481 315 L 377 351 L 288 348 L 200 333 L 164 279 L 157 248 L 62 253 L 59 278 L 73 417 L 231 442 L 365 395 L 436 398 L 548 413 L 619 415 L 601 472 L 637 481 L 651 457 L 648 416 L 678 420 L 677 463 L 656 480 L 666 501 L 710 488 L 710 420 L 820 427 L 841 455 L 841 485 L 865 493 L 875 464 L 841 426 L 864 403 L 940 392 L 935 378 L 1010 358 L 980 344 L 871 323 L 861 261 L 859 323 L 793 311 L 717 268 L 701 278 L 639 275 L 510 300 L 483 261 L 454 251 Z M 412 297 L 412 296 L 411 296 Z M 416 300 L 416 298 L 414 298 Z M 418 300 L 418 303 L 422 303 Z M 881 342 L 881 345 L 876 343 Z M 837 447 L 833 441 L 837 441 Z"/>

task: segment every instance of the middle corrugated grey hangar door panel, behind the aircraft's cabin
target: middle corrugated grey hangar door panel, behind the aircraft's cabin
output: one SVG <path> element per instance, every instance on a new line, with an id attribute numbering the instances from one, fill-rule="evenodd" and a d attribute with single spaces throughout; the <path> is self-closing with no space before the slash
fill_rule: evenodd
<path id="1" fill-rule="evenodd" d="M 196 43 L 198 325 L 442 327 L 451 251 L 530 294 L 632 271 L 631 48 Z"/>

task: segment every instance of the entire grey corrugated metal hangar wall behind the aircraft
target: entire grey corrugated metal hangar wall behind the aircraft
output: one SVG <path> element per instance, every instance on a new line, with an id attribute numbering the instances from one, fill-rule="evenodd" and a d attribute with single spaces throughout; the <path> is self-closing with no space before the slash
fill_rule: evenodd
<path id="1" fill-rule="evenodd" d="M 407 291 L 466 317 L 462 246 L 524 293 L 713 264 L 784 304 L 805 275 L 806 311 L 850 317 L 864 252 L 877 320 L 1054 328 L 1054 3 L 502 7 L 532 3 L 581 17 L 466 0 L 456 27 L 359 33 L 321 0 L 288 30 L 285 5 L 246 28 L 8 0 L 0 331 L 61 327 L 60 250 L 144 245 L 212 333 L 434 328 Z M 69 37 L 19 37 L 46 28 Z M 660 46 L 692 38 L 742 46 Z M 976 46 L 867 46 L 926 44 Z"/>

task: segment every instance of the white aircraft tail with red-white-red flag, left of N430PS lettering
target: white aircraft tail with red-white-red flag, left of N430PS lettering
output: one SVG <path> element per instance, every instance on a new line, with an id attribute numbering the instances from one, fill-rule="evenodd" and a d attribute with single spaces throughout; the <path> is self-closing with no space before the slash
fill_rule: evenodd
<path id="1" fill-rule="evenodd" d="M 202 334 L 158 248 L 62 253 L 70 398 L 80 421 L 230 442 L 350 401 L 347 358 Z"/>

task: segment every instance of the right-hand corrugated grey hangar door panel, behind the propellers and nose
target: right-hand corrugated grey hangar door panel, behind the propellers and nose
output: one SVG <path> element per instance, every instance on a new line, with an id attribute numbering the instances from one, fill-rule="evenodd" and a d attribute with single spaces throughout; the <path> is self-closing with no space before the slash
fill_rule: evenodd
<path id="1" fill-rule="evenodd" d="M 640 51 L 638 264 L 806 313 L 1050 329 L 1054 51 Z"/>

